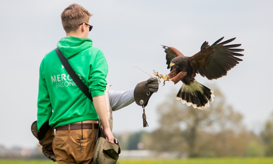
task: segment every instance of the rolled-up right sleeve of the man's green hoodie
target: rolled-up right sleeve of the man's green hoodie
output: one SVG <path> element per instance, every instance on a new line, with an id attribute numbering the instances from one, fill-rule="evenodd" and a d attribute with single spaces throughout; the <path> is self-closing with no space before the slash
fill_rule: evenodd
<path id="1" fill-rule="evenodd" d="M 104 95 L 106 88 L 106 76 L 108 73 L 108 64 L 104 54 L 99 50 L 96 54 L 95 60 L 90 64 L 90 74 L 88 79 L 89 92 L 92 97 Z"/>

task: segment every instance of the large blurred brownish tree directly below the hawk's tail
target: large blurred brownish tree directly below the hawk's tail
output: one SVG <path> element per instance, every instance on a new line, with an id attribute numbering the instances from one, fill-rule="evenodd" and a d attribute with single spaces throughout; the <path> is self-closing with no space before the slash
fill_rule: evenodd
<path id="1" fill-rule="evenodd" d="M 243 116 L 227 105 L 215 86 L 214 102 L 206 110 L 194 109 L 172 93 L 158 106 L 159 128 L 153 132 L 149 149 L 179 151 L 181 156 L 244 156 L 248 132 Z"/>

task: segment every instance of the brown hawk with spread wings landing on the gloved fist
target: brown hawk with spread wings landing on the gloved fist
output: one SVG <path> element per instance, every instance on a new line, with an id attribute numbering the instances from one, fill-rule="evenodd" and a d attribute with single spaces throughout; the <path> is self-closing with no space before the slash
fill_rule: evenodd
<path id="1" fill-rule="evenodd" d="M 199 73 L 209 80 L 218 79 L 227 75 L 227 71 L 239 64 L 239 61 L 243 61 L 235 56 L 244 56 L 237 53 L 244 51 L 244 49 L 233 49 L 241 44 L 225 45 L 235 38 L 221 42 L 223 38 L 218 39 L 211 46 L 205 41 L 201 45 L 201 50 L 191 57 L 184 56 L 173 47 L 163 46 L 166 53 L 167 69 L 170 68 L 170 73 L 163 76 L 154 71 L 154 74 L 159 77 L 159 81 L 160 78 L 163 78 L 164 84 L 166 80 L 173 81 L 174 84 L 182 81 L 183 84 L 176 99 L 188 106 L 192 105 L 201 110 L 206 109 L 210 106 L 209 102 L 213 102 L 213 91 L 198 83 L 195 80 L 196 74 Z"/>

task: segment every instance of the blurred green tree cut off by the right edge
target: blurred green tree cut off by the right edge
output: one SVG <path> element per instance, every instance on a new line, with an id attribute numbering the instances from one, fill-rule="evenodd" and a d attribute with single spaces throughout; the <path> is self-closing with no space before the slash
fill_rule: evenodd
<path id="1" fill-rule="evenodd" d="M 261 136 L 265 142 L 265 155 L 273 156 L 273 113 L 271 114 L 269 120 L 265 122 L 264 130 Z"/>

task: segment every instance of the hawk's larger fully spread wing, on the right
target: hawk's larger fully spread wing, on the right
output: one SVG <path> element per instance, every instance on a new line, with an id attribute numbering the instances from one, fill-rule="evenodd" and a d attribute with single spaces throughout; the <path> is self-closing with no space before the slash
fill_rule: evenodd
<path id="1" fill-rule="evenodd" d="M 227 75 L 227 71 L 239 64 L 239 61 L 243 61 L 235 56 L 244 56 L 236 53 L 244 51 L 244 49 L 231 49 L 239 47 L 241 44 L 224 45 L 232 42 L 235 38 L 219 43 L 223 38 L 211 46 L 205 41 L 201 46 L 201 51 L 190 57 L 190 64 L 193 69 L 196 69 L 201 76 L 206 76 L 209 80 Z"/>

